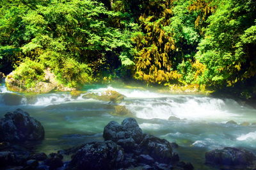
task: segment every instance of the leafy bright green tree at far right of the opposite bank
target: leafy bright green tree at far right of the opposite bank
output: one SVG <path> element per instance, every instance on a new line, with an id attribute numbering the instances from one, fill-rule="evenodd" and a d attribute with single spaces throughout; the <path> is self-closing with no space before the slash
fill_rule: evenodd
<path id="1" fill-rule="evenodd" d="M 231 86 L 255 75 L 255 9 L 253 1 L 223 0 L 209 17 L 196 54 L 207 68 L 202 83 Z"/>

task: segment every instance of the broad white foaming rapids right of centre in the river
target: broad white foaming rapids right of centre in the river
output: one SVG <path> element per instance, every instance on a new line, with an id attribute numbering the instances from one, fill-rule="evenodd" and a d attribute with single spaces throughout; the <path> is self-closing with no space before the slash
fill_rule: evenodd
<path id="1" fill-rule="evenodd" d="M 239 114 L 230 112 L 234 100 L 222 100 L 210 97 L 168 97 L 148 100 L 135 100 L 127 104 L 127 108 L 136 113 L 138 118 L 159 118 L 168 120 L 170 116 L 188 120 L 228 120 L 239 117 Z"/>

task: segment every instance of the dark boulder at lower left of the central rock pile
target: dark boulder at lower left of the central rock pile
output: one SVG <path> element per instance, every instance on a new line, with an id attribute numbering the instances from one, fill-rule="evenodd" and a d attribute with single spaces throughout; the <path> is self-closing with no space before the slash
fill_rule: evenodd
<path id="1" fill-rule="evenodd" d="M 70 162 L 70 169 L 115 169 L 122 166 L 124 151 L 113 141 L 88 143 Z"/>

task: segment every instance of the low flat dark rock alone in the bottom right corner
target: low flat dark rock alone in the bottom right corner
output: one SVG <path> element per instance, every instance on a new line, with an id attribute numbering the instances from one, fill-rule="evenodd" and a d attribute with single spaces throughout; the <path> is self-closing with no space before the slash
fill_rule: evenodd
<path id="1" fill-rule="evenodd" d="M 256 157 L 250 151 L 226 147 L 221 150 L 211 150 L 206 152 L 205 160 L 208 164 L 248 166 L 253 164 Z"/>

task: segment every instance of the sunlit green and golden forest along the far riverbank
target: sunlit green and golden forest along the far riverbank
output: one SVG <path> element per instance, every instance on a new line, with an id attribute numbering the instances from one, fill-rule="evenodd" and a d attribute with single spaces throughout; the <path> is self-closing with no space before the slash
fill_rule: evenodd
<path id="1" fill-rule="evenodd" d="M 256 98 L 256 1 L 3 0 L 0 71 L 23 89 L 116 79 Z M 8 77 L 7 76 L 7 77 Z"/>

